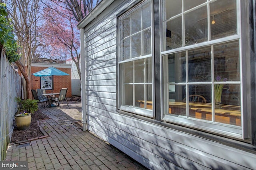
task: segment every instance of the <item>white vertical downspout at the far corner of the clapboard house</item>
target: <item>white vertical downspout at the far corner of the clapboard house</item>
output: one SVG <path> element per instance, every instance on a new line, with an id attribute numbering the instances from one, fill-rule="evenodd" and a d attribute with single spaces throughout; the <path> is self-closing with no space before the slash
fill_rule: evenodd
<path id="1" fill-rule="evenodd" d="M 81 99 L 82 99 L 82 124 L 83 124 L 83 131 L 87 129 L 87 116 L 86 116 L 86 64 L 85 64 L 85 43 L 84 43 L 84 29 L 80 29 L 80 55 L 81 55 Z"/>

